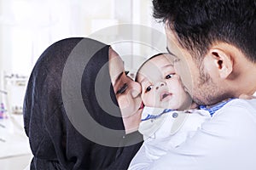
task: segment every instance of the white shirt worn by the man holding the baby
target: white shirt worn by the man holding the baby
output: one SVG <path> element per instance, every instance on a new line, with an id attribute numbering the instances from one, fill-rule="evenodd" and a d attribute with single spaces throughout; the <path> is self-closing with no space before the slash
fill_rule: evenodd
<path id="1" fill-rule="evenodd" d="M 256 99 L 233 99 L 202 123 L 192 138 L 157 160 L 143 152 L 144 146 L 129 169 L 255 170 Z"/>

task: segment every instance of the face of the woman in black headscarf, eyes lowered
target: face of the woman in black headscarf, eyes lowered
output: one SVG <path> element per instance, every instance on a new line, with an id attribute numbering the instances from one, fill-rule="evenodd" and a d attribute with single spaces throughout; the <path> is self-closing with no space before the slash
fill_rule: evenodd
<path id="1" fill-rule="evenodd" d="M 138 126 L 143 110 L 143 103 L 140 96 L 141 86 L 125 74 L 123 60 L 112 48 L 109 49 L 109 74 L 113 84 L 113 91 L 123 116 L 125 130 L 127 128 L 131 129 L 131 124 L 133 123 Z M 128 118 L 131 118 L 130 121 L 132 121 L 127 122 Z"/>

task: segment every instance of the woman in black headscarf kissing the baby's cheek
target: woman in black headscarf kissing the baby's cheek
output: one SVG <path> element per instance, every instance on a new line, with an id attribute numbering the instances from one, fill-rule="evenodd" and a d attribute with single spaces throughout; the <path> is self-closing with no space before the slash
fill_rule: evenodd
<path id="1" fill-rule="evenodd" d="M 55 42 L 26 89 L 30 168 L 127 169 L 142 144 L 140 90 L 110 46 L 88 38 Z"/>

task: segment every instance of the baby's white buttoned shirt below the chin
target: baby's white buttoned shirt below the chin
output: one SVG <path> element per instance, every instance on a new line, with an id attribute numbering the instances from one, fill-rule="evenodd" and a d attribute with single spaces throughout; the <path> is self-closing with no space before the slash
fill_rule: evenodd
<path id="1" fill-rule="evenodd" d="M 201 127 L 202 122 L 211 118 L 209 112 L 203 110 L 168 111 L 165 113 L 164 111 L 165 109 L 153 107 L 143 109 L 142 119 L 146 119 L 148 115 L 157 116 L 142 121 L 138 129 L 143 134 L 143 147 L 145 148 L 143 154 L 148 159 L 158 159 L 165 155 L 170 148 L 182 144 L 187 138 L 193 136 L 197 128 Z M 133 161 L 137 159 L 140 158 L 135 156 Z"/>

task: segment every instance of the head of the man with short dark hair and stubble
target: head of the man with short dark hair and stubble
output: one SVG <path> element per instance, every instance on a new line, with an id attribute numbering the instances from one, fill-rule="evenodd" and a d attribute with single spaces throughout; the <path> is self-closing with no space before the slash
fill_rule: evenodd
<path id="1" fill-rule="evenodd" d="M 166 23 L 167 47 L 176 58 L 177 73 L 195 102 L 210 105 L 256 90 L 235 84 L 242 79 L 249 82 L 246 67 L 255 72 L 255 0 L 154 0 L 153 4 L 154 17 Z"/>

